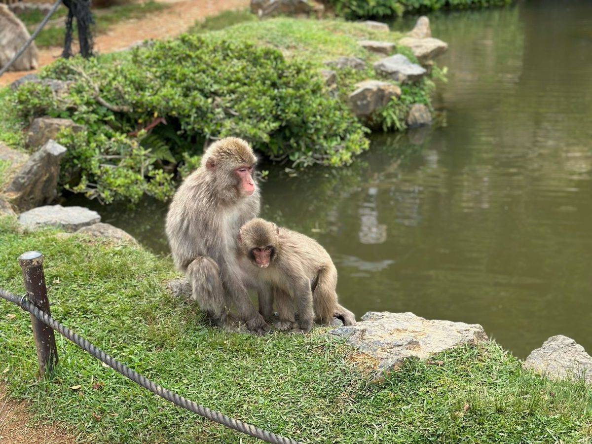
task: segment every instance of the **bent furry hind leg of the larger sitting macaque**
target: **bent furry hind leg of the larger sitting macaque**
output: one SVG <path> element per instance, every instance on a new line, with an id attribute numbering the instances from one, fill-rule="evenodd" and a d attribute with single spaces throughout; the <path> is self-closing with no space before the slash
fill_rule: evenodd
<path id="1" fill-rule="evenodd" d="M 218 265 L 208 256 L 198 256 L 185 272 L 191 282 L 191 300 L 197 301 L 201 310 L 218 326 L 226 326 L 228 310 Z"/>

